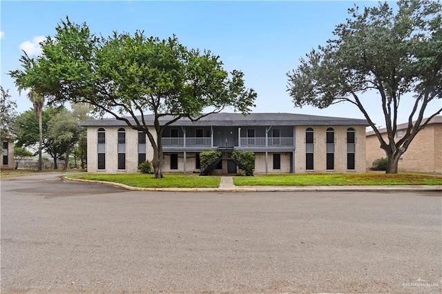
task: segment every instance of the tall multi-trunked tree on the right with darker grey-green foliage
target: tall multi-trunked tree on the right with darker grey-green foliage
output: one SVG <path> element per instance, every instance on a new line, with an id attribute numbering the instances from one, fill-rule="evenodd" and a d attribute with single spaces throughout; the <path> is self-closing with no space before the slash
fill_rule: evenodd
<path id="1" fill-rule="evenodd" d="M 387 173 L 397 173 L 399 157 L 442 111 L 439 106 L 427 108 L 430 101 L 442 97 L 441 3 L 412 0 L 398 1 L 397 6 L 397 11 L 388 3 L 363 11 L 349 9 L 346 23 L 334 30 L 336 37 L 312 50 L 287 74 L 295 106 L 326 108 L 341 101 L 357 106 L 385 150 Z M 364 99 L 373 96 L 381 100 L 386 138 L 364 106 Z M 399 106 L 409 99 L 413 107 L 407 129 L 397 138 Z M 430 112 L 426 121 L 425 110 Z"/>

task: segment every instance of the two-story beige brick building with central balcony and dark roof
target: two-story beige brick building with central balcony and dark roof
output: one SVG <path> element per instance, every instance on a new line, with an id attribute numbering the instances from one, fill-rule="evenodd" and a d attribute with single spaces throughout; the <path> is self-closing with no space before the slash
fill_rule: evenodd
<path id="1" fill-rule="evenodd" d="M 166 117 L 166 119 L 168 119 Z M 170 117 L 169 117 L 170 119 Z M 153 116 L 146 124 L 153 128 Z M 129 172 L 153 149 L 144 133 L 117 119 L 84 121 L 88 129 L 88 171 Z M 255 173 L 365 173 L 365 119 L 291 113 L 218 113 L 199 121 L 180 119 L 164 130 L 164 172 L 200 172 L 203 150 L 251 150 Z M 221 161 L 215 174 L 237 173 Z"/>

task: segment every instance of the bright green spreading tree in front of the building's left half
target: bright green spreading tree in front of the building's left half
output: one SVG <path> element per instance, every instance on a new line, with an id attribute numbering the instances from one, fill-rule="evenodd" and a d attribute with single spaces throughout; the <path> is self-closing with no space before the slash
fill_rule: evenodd
<path id="1" fill-rule="evenodd" d="M 23 70 L 10 75 L 28 81 L 52 103 L 88 103 L 146 133 L 157 178 L 163 177 L 162 134 L 167 126 L 227 106 L 244 114 L 254 106 L 256 92 L 244 86 L 242 72 L 227 72 L 218 56 L 186 48 L 175 36 L 161 40 L 137 31 L 97 38 L 86 23 L 68 19 L 56 31 L 42 43 L 40 57 L 23 56 Z M 146 121 L 151 113 L 154 131 Z"/>

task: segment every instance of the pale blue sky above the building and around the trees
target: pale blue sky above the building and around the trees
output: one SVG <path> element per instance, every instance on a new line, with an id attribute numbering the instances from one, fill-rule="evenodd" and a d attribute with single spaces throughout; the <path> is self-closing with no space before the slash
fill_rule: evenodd
<path id="1" fill-rule="evenodd" d="M 184 46 L 211 50 L 227 70 L 242 70 L 247 87 L 258 92 L 253 112 L 295 112 L 364 118 L 356 106 L 338 104 L 324 110 L 294 108 L 286 92 L 286 73 L 300 57 L 332 38 L 354 1 L 1 1 L 1 86 L 10 89 L 18 111 L 31 104 L 19 96 L 9 70 L 20 67 L 21 49 L 38 54 L 41 37 L 54 35 L 66 17 L 86 22 L 97 35 L 114 30 L 167 38 L 175 34 Z M 394 4 L 394 2 L 391 2 Z M 357 1 L 360 7 L 376 1 Z M 378 126 L 385 126 L 380 101 L 365 95 Z M 439 101 L 440 105 L 440 101 Z M 407 120 L 407 109 L 399 121 Z"/>

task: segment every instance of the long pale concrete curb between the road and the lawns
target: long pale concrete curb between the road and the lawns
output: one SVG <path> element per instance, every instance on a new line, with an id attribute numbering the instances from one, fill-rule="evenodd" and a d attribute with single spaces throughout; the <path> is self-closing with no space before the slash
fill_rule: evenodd
<path id="1" fill-rule="evenodd" d="M 233 188 L 137 188 L 124 184 L 95 181 L 90 179 L 69 179 L 61 176 L 62 179 L 76 182 L 100 183 L 115 186 L 133 191 L 148 192 L 382 192 L 382 191 L 442 191 L 442 186 L 235 186 Z M 442 195 L 441 195 L 442 196 Z"/>

